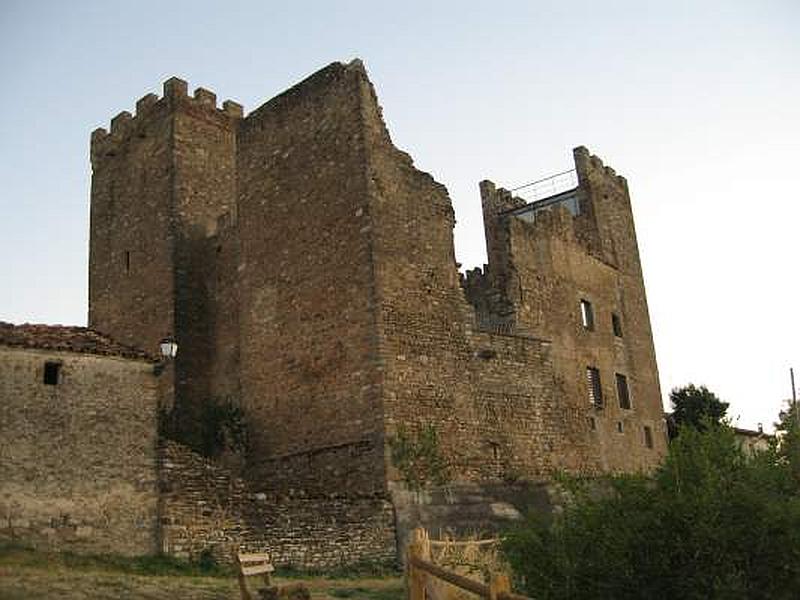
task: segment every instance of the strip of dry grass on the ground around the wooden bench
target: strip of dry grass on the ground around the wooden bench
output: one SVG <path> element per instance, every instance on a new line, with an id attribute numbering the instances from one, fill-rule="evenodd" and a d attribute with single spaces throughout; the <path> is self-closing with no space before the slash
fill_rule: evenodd
<path id="1" fill-rule="evenodd" d="M 315 574 L 279 570 L 275 582 L 302 582 L 313 600 L 402 600 L 399 574 L 391 570 L 377 575 L 376 571 L 381 572 L 376 565 Z M 251 579 L 248 583 L 254 591 L 258 581 Z M 203 567 L 170 557 L 80 556 L 0 545 L 0 598 L 222 600 L 239 598 L 239 588 L 233 570 L 225 566 Z"/>

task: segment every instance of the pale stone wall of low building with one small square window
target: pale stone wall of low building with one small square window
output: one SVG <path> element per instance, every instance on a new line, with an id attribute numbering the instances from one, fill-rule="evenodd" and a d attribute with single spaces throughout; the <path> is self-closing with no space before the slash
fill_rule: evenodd
<path id="1" fill-rule="evenodd" d="M 57 385 L 46 361 L 61 364 Z M 0 347 L 0 536 L 155 552 L 156 386 L 145 361 Z"/>

